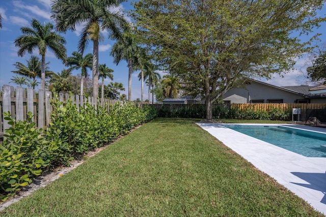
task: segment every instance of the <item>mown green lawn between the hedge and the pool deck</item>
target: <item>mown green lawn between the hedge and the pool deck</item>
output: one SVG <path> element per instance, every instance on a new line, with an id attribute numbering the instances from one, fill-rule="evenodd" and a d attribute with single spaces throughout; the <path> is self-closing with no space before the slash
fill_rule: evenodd
<path id="1" fill-rule="evenodd" d="M 157 118 L 1 216 L 323 216 L 195 124 Z"/>

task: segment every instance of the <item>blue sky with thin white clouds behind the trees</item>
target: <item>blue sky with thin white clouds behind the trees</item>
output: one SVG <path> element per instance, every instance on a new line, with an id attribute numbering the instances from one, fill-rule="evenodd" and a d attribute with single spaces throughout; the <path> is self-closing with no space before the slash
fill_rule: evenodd
<path id="1" fill-rule="evenodd" d="M 117 10 L 128 11 L 131 9 L 130 1 L 123 3 Z M 13 76 L 16 74 L 12 73 L 16 68 L 13 66 L 17 61 L 23 64 L 26 64 L 26 59 L 29 59 L 31 54 L 26 53 L 23 57 L 18 57 L 17 48 L 14 45 L 14 40 L 21 35 L 20 27 L 22 26 L 31 26 L 31 20 L 33 18 L 37 19 L 41 23 L 52 22 L 50 19 L 50 0 L 23 0 L 23 1 L 12 1 L 12 0 L 0 0 L 0 12 L 3 16 L 3 28 L 0 29 L 0 86 L 4 84 L 13 85 L 9 83 Z M 320 16 L 325 16 L 326 14 L 326 5 L 318 12 Z M 77 42 L 79 40 L 79 33 L 82 29 L 82 26 L 79 26 L 75 32 L 68 31 L 66 34 L 59 33 L 63 36 L 67 43 L 67 55 L 71 56 L 73 51 L 77 50 Z M 314 34 L 322 34 L 319 38 L 321 42 L 316 42 L 318 45 L 324 45 L 326 43 L 326 23 L 322 23 L 321 27 L 314 29 Z M 114 82 L 122 82 L 126 91 L 124 94 L 127 94 L 128 86 L 128 68 L 126 61 L 121 61 L 121 63 L 116 66 L 113 63 L 113 58 L 110 56 L 110 51 L 115 43 L 112 40 L 107 39 L 107 33 L 103 33 L 104 41 L 99 44 L 99 63 L 106 64 L 107 67 L 114 70 Z M 308 37 L 302 37 L 302 40 L 307 40 Z M 85 50 L 85 54 L 92 53 L 92 43 L 89 43 L 89 46 Z M 35 52 L 34 55 L 38 55 L 38 52 Z M 273 79 L 265 81 L 270 84 L 278 86 L 289 86 L 289 85 L 301 85 L 306 80 L 303 76 L 303 73 L 306 71 L 306 63 L 308 57 L 296 59 L 297 63 L 295 69 L 288 74 L 284 74 L 284 78 L 276 75 Z M 65 66 L 60 60 L 58 60 L 53 53 L 49 50 L 46 53 L 46 62 L 50 61 L 50 70 L 53 72 L 61 72 Z M 89 71 L 92 74 L 91 71 Z M 138 73 L 134 72 L 132 77 L 132 100 L 141 97 L 141 82 L 138 80 Z M 79 71 L 73 71 L 72 74 L 80 74 Z M 111 80 L 106 79 L 104 84 L 108 84 Z M 147 99 L 147 86 L 144 85 L 144 99 Z"/>

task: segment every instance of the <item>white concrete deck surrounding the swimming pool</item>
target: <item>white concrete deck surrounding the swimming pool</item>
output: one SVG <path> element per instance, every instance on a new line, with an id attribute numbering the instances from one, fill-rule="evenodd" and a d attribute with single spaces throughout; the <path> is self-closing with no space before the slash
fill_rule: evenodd
<path id="1" fill-rule="evenodd" d="M 256 168 L 271 177 L 295 195 L 326 214 L 326 158 L 308 158 L 276 145 L 244 135 L 224 127 L 226 123 L 197 123 Z M 232 123 L 236 125 L 236 123 Z M 255 125 L 255 124 L 239 124 Z M 256 124 L 280 126 L 273 124 Z M 303 125 L 282 125 L 326 133 L 326 129 Z M 326 144 L 325 144 L 326 145 Z"/>

